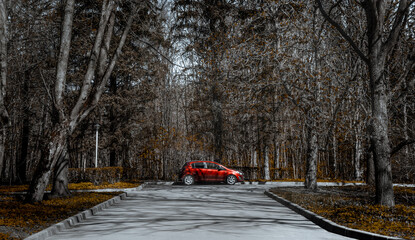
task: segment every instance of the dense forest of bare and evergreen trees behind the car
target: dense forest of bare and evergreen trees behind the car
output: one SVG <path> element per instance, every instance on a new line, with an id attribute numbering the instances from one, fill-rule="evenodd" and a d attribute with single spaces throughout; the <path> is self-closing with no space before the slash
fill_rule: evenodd
<path id="1" fill-rule="evenodd" d="M 0 179 L 28 201 L 193 159 L 389 206 L 415 179 L 413 0 L 0 0 L 0 71 Z"/>

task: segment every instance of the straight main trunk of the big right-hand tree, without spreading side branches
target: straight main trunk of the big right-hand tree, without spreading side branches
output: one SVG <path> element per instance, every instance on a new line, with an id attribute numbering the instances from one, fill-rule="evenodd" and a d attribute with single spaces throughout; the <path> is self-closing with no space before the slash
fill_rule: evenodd
<path id="1" fill-rule="evenodd" d="M 379 1 L 377 3 L 368 1 L 365 4 L 368 21 L 368 67 L 372 107 L 369 136 L 373 148 L 373 160 L 375 162 L 376 203 L 392 207 L 395 205 L 395 199 L 393 194 L 390 141 L 388 136 L 389 115 L 385 63 L 386 56 L 391 50 L 391 46 L 396 43 L 396 40 L 395 42 L 388 40 L 388 44 L 386 45 L 381 41 L 383 23 L 385 21 L 385 1 Z M 396 18 L 398 20 L 399 16 Z M 394 31 L 397 30 L 394 29 Z M 393 39 L 393 37 L 395 35 L 391 33 L 390 39 Z"/>

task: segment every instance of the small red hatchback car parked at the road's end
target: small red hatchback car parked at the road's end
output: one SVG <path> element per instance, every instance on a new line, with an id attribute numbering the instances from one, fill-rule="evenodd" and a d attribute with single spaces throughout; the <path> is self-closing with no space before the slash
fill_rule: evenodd
<path id="1" fill-rule="evenodd" d="M 244 181 L 242 172 L 212 161 L 191 161 L 183 165 L 179 179 L 186 185 L 195 182 L 226 182 L 233 185 Z"/>

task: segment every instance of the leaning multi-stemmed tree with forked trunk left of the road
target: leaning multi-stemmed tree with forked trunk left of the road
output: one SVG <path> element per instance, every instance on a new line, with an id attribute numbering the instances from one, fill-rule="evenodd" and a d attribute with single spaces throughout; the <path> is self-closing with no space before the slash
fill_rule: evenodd
<path id="1" fill-rule="evenodd" d="M 38 202 L 43 199 L 49 178 L 54 170 L 54 184 L 52 192 L 59 195 L 68 194 L 67 176 L 65 176 L 65 157 L 67 155 L 67 139 L 74 132 L 76 127 L 82 122 L 89 113 L 97 106 L 107 81 L 114 69 L 114 66 L 121 54 L 122 47 L 127 38 L 131 24 L 133 22 L 136 6 L 131 2 L 131 13 L 129 14 L 127 24 L 122 32 L 122 36 L 117 44 L 117 49 L 112 58 L 108 61 L 103 74 L 97 73 L 97 65 L 100 59 L 106 58 L 105 54 L 100 54 L 101 48 L 105 46 L 105 36 L 108 36 L 114 29 L 109 26 L 109 19 L 116 9 L 116 3 L 113 0 L 102 1 L 102 10 L 99 20 L 99 26 L 95 33 L 95 41 L 90 53 L 87 69 L 78 93 L 78 99 L 72 108 L 65 106 L 65 90 L 67 69 L 69 60 L 69 51 L 71 47 L 71 36 L 73 17 L 75 9 L 75 0 L 67 0 L 65 3 L 64 18 L 62 22 L 60 50 L 56 68 L 56 79 L 54 91 L 50 93 L 53 100 L 52 128 L 45 136 L 47 144 L 42 151 L 42 158 L 36 168 L 35 175 L 29 186 L 26 195 L 26 201 Z M 110 39 L 111 37 L 109 37 Z M 104 60 L 105 61 L 105 60 Z M 62 166 L 63 163 L 63 166 Z M 58 168 L 55 169 L 55 167 Z"/>

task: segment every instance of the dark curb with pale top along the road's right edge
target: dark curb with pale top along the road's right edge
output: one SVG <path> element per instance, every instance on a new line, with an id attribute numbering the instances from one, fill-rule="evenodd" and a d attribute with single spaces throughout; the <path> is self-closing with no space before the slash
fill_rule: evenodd
<path id="1" fill-rule="evenodd" d="M 320 226 L 321 228 L 336 233 L 345 237 L 355 238 L 355 239 L 362 239 L 362 240 L 402 240 L 402 238 L 396 237 L 389 237 L 380 234 L 370 233 L 362 230 L 357 230 L 353 228 L 348 228 L 345 226 L 341 226 L 337 223 L 334 223 L 328 219 L 325 219 L 311 211 L 304 209 L 303 207 L 292 203 L 284 198 L 281 198 L 274 193 L 269 191 L 264 192 L 265 195 L 268 197 L 276 200 L 277 202 L 281 203 L 282 205 L 288 207 L 289 209 L 293 210 L 294 212 L 304 216 L 308 220 L 312 221 L 316 225 Z"/>

